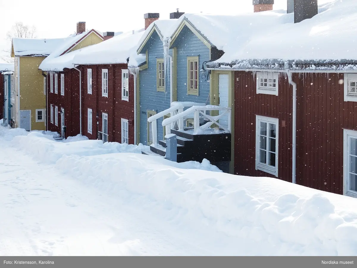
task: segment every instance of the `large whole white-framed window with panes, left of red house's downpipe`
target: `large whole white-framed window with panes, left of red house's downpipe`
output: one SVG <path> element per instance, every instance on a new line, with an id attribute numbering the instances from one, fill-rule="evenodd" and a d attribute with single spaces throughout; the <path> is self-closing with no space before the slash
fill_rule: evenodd
<path id="1" fill-rule="evenodd" d="M 255 169 L 278 177 L 279 119 L 256 116 Z"/>

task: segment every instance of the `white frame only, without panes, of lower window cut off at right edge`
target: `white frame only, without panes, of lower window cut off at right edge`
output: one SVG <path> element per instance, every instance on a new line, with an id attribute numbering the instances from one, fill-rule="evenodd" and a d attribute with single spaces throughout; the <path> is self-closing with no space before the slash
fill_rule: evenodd
<path id="1" fill-rule="evenodd" d="M 357 197 L 357 192 L 350 190 L 350 138 L 357 139 L 357 131 L 343 129 L 343 195 Z"/>

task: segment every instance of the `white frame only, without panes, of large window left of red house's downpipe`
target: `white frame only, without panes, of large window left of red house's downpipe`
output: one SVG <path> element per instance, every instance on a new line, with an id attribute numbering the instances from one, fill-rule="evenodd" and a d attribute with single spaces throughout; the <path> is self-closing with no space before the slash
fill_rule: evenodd
<path id="1" fill-rule="evenodd" d="M 266 122 L 267 123 L 267 132 L 268 132 L 268 124 L 276 124 L 276 143 L 275 143 L 275 167 L 272 167 L 268 164 L 262 164 L 260 163 L 260 122 Z M 279 162 L 278 162 L 278 154 L 279 154 L 279 119 L 278 118 L 271 118 L 271 117 L 266 117 L 266 116 L 261 116 L 261 115 L 256 115 L 256 128 L 255 128 L 255 132 L 256 132 L 256 144 L 255 144 L 255 148 L 256 148 L 256 152 L 255 152 L 255 169 L 256 170 L 261 170 L 263 172 L 275 175 L 276 177 L 278 177 L 278 166 L 279 166 Z M 268 136 L 268 133 L 267 133 Z M 266 162 L 268 162 L 268 137 L 266 139 Z"/>

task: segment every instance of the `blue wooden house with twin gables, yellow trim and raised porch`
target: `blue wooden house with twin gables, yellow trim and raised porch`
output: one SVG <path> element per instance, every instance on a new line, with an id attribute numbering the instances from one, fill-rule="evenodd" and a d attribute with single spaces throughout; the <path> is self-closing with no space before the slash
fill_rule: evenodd
<path id="1" fill-rule="evenodd" d="M 143 153 L 165 156 L 165 135 L 174 133 L 178 162 L 206 158 L 224 163 L 228 171 L 234 82 L 231 72 L 211 73 L 206 67 L 223 51 L 182 15 L 152 23 L 137 53 L 146 53 L 140 66 L 138 130 L 150 152 Z"/>

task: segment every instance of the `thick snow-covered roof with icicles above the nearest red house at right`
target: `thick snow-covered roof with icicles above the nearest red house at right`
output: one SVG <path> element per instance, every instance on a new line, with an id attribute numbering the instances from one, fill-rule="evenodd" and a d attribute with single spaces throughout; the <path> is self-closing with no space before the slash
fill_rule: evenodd
<path id="1" fill-rule="evenodd" d="M 261 12 L 242 20 L 234 33 L 236 40 L 223 46 L 225 54 L 216 62 L 242 69 L 284 65 L 284 62 L 297 69 L 302 68 L 298 64 L 312 69 L 316 67 L 313 64 L 325 65 L 322 68 L 346 68 L 346 65 L 333 66 L 336 63 L 349 63 L 354 65 L 348 66 L 349 69 L 356 68 L 356 0 L 334 0 L 320 5 L 317 15 L 300 23 L 293 23 L 292 17 L 289 18 L 293 14 L 281 14 L 280 22 L 268 24 L 265 19 L 271 13 L 275 12 Z M 251 25 L 259 24 L 261 30 L 252 29 Z"/>

